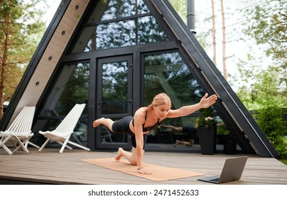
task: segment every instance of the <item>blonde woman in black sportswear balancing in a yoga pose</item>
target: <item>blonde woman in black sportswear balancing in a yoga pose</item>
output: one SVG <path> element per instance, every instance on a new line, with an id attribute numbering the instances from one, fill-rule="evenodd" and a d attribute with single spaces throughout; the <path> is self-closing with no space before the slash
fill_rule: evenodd
<path id="1" fill-rule="evenodd" d="M 156 128 L 163 119 L 183 117 L 199 109 L 210 107 L 215 104 L 216 99 L 216 95 L 207 97 L 205 94 L 199 103 L 173 110 L 170 109 L 170 97 L 165 93 L 160 93 L 153 98 L 153 102 L 148 107 L 139 108 L 134 117 L 124 117 L 115 122 L 112 119 L 102 117 L 93 122 L 93 127 L 104 124 L 114 133 L 130 134 L 132 139 L 131 152 L 119 148 L 115 161 L 120 161 L 121 156 L 124 156 L 132 165 L 137 166 L 139 173 L 151 174 L 151 171 L 147 171 L 143 166 L 144 147 L 148 131 Z"/>

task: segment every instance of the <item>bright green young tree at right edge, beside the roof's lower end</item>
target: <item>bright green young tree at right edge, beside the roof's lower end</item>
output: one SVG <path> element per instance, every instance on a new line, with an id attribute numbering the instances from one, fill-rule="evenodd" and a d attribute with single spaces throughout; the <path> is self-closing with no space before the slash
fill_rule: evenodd
<path id="1" fill-rule="evenodd" d="M 283 136 L 287 134 L 284 125 L 283 114 L 286 114 L 286 96 L 281 95 L 278 91 L 278 81 L 274 76 L 276 70 L 269 68 L 267 71 L 261 71 L 258 75 L 256 84 L 257 92 L 256 102 L 260 105 L 256 119 L 267 138 L 275 146 L 282 158 L 287 158 L 286 144 L 283 142 Z"/>

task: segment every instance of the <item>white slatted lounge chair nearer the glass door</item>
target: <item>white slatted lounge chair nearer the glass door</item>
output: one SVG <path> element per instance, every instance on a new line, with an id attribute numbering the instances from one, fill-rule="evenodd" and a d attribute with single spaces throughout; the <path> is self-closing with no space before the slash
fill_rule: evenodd
<path id="1" fill-rule="evenodd" d="M 58 127 L 55 130 L 39 131 L 40 134 L 43 134 L 43 136 L 47 138 L 45 143 L 40 147 L 39 151 L 42 151 L 49 141 L 56 141 L 62 145 L 62 148 L 60 149 L 60 154 L 63 153 L 65 147 L 67 147 L 68 149 L 72 149 L 70 146 L 67 146 L 67 143 L 77 146 L 81 149 L 90 151 L 90 149 L 88 149 L 85 146 L 69 141 L 70 136 L 74 132 L 77 121 L 80 119 L 80 116 L 85 108 L 85 105 L 86 104 L 75 104 L 75 107 L 73 107 L 70 110 L 70 112 L 67 114 L 67 116 L 63 119 L 63 121 L 58 125 Z"/>

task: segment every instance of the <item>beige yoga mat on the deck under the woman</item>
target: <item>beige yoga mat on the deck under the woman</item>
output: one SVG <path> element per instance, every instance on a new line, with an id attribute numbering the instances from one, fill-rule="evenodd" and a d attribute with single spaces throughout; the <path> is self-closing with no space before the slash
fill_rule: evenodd
<path id="1" fill-rule="evenodd" d="M 133 176 L 138 176 L 140 178 L 146 178 L 151 181 L 170 181 L 178 178 L 189 178 L 194 176 L 202 176 L 205 173 L 198 173 L 193 171 L 186 171 L 178 168 L 169 168 L 166 166 L 157 166 L 153 164 L 144 163 L 144 167 L 152 171 L 151 175 L 143 175 L 136 171 L 136 166 L 132 166 L 126 159 L 121 159 L 121 161 L 114 161 L 114 158 L 99 158 L 99 159 L 82 159 L 87 163 L 92 163 L 97 166 L 102 166 L 104 168 L 109 168 L 114 171 L 120 171 L 123 173 L 128 173 Z"/>

